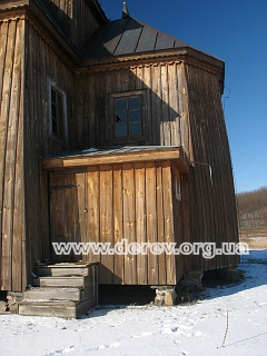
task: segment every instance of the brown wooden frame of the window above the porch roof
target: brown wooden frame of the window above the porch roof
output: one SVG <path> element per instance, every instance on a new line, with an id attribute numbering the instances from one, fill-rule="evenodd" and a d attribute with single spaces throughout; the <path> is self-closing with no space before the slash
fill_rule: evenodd
<path id="1" fill-rule="evenodd" d="M 118 144 L 137 144 L 139 141 L 145 141 L 146 139 L 146 89 L 140 90 L 128 90 L 128 91 L 119 91 L 111 92 L 112 97 L 112 141 Z M 116 136 L 116 120 L 117 120 L 117 110 L 116 110 L 116 101 L 119 99 L 130 99 L 130 98 L 140 98 L 140 135 L 127 135 L 127 136 Z M 128 101 L 129 102 L 129 101 Z M 129 109 L 127 108 L 127 118 L 129 118 Z M 130 122 L 127 121 L 127 132 Z"/>

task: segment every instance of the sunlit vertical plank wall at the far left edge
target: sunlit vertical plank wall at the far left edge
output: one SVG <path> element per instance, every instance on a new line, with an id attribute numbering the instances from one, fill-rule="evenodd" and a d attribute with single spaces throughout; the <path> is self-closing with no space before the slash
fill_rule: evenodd
<path id="1" fill-rule="evenodd" d="M 23 199 L 24 23 L 0 20 L 0 289 L 21 290 Z"/>

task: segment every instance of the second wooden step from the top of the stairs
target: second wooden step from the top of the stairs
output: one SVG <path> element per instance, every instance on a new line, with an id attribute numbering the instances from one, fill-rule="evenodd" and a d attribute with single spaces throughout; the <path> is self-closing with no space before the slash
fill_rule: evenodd
<path id="1" fill-rule="evenodd" d="M 33 287 L 56 287 L 56 288 L 68 288 L 78 287 L 87 288 L 92 284 L 91 278 L 88 276 L 72 276 L 72 277 L 34 277 L 32 279 Z"/>

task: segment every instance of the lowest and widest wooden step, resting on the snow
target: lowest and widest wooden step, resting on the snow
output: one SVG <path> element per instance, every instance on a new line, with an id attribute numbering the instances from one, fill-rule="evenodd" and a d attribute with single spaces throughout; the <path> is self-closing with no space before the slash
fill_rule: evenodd
<path id="1" fill-rule="evenodd" d="M 61 318 L 78 318 L 95 306 L 93 298 L 82 303 L 75 301 L 39 301 L 22 300 L 19 303 L 19 314 L 28 316 L 51 316 Z"/>

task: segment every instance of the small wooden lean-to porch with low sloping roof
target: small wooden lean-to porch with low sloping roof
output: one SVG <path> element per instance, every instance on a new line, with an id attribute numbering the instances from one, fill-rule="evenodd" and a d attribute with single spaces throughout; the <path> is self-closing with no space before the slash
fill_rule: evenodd
<path id="1" fill-rule="evenodd" d="M 50 171 L 51 243 L 182 243 L 190 239 L 188 172 L 180 147 L 85 150 L 42 159 Z M 179 257 L 179 258 L 178 258 Z M 175 286 L 189 266 L 174 255 L 69 255 L 99 261 L 99 284 Z"/>

